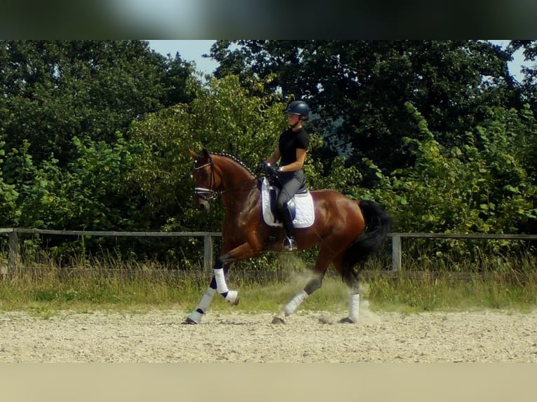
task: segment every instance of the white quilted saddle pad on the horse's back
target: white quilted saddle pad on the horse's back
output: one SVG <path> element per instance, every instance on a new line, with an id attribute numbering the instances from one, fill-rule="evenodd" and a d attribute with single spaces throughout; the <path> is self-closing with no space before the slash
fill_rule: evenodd
<path id="1" fill-rule="evenodd" d="M 263 219 L 269 226 L 283 226 L 281 222 L 275 222 L 274 215 L 271 211 L 270 188 L 271 185 L 265 177 L 261 183 Z M 294 195 L 294 205 L 297 213 L 294 217 L 293 226 L 295 228 L 308 228 L 313 225 L 315 221 L 315 209 L 313 209 L 313 198 L 310 192 Z"/>

